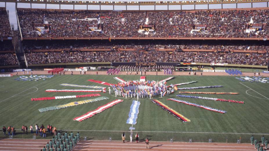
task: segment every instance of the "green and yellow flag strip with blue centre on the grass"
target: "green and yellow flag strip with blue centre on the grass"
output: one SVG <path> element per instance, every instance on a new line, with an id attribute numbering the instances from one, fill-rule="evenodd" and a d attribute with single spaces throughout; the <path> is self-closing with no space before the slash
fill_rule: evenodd
<path id="1" fill-rule="evenodd" d="M 106 100 L 109 99 L 108 97 L 97 97 L 95 99 L 88 99 L 88 100 L 82 100 L 78 102 L 70 102 L 67 104 L 62 104 L 62 105 L 57 105 L 57 106 L 50 106 L 46 108 L 40 108 L 38 111 L 39 112 L 46 112 L 46 111 L 52 111 L 52 110 L 57 110 L 61 108 L 67 108 L 70 106 L 76 106 L 76 105 L 81 105 L 81 104 L 86 104 L 86 103 L 91 103 L 91 102 L 96 102 L 96 101 L 101 101 L 101 100 Z"/>

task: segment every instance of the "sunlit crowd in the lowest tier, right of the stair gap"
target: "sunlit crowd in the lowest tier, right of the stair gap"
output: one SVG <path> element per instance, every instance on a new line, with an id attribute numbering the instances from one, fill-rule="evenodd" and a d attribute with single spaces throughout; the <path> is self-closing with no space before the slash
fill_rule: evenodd
<path id="1" fill-rule="evenodd" d="M 75 51 L 26 53 L 28 64 L 69 62 L 201 62 L 267 65 L 266 54 L 187 51 Z"/>

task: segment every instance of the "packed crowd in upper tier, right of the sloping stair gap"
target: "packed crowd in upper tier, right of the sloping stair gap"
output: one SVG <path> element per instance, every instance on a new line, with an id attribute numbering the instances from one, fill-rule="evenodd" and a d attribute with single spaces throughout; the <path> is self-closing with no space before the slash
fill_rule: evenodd
<path id="1" fill-rule="evenodd" d="M 264 37 L 269 35 L 269 10 L 205 10 L 196 12 L 90 12 L 17 10 L 23 37 Z M 140 25 L 154 25 L 139 33 Z M 46 23 L 47 21 L 47 23 Z M 245 32 L 247 24 L 266 24 Z M 46 25 L 44 25 L 46 23 Z M 101 31 L 92 31 L 93 25 Z M 146 23 L 147 24 L 147 23 Z M 41 26 L 42 25 L 42 26 Z M 205 28 L 196 28 L 202 25 Z M 48 26 L 42 31 L 39 27 Z M 39 28 L 39 29 L 38 29 Z M 39 31 L 36 31 L 39 30 Z M 147 30 L 146 30 L 147 31 Z M 259 32 L 258 32 L 259 31 Z"/>

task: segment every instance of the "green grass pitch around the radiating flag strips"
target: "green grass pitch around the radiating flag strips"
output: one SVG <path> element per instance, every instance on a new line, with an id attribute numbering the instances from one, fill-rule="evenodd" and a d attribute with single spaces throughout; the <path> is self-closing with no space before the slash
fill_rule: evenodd
<path id="1" fill-rule="evenodd" d="M 88 98 L 73 98 L 47 101 L 31 101 L 31 98 L 36 97 L 51 97 L 51 96 L 65 96 L 65 95 L 81 95 L 88 93 L 50 93 L 45 92 L 46 89 L 80 89 L 78 87 L 60 86 L 62 83 L 79 84 L 79 85 L 96 85 L 101 84 L 88 82 L 88 79 L 101 80 L 104 82 L 117 83 L 112 77 L 116 76 L 80 76 L 80 75 L 66 75 L 54 76 L 48 80 L 40 81 L 16 81 L 11 78 L 0 78 L 0 126 L 14 126 L 17 132 L 21 133 L 21 126 L 31 124 L 52 124 L 58 130 L 68 130 L 77 132 L 81 130 L 82 137 L 96 140 L 120 140 L 122 131 L 129 135 L 130 124 L 126 124 L 130 105 L 132 99 L 123 99 L 124 101 L 99 113 L 90 119 L 82 122 L 73 121 L 74 117 L 83 115 L 88 111 L 92 111 L 97 107 L 104 105 L 116 97 L 107 93 L 100 93 L 102 96 L 109 97 L 108 100 L 63 108 L 54 111 L 47 111 L 40 113 L 39 108 L 65 104 L 68 102 L 86 100 Z M 138 80 L 140 76 L 119 76 L 123 80 Z M 162 80 L 168 76 L 146 76 L 147 80 Z M 190 119 L 190 122 L 181 122 L 168 112 L 162 110 L 155 105 L 150 99 L 141 99 L 139 107 L 139 115 L 137 124 L 134 125 L 135 131 L 139 131 L 140 139 L 149 137 L 151 141 L 189 141 L 193 142 L 208 142 L 212 138 L 213 142 L 236 142 L 241 137 L 241 143 L 249 142 L 250 136 L 254 134 L 260 140 L 262 134 L 268 135 L 268 121 L 269 121 L 269 84 L 264 83 L 250 83 L 243 82 L 246 86 L 240 84 L 241 81 L 232 76 L 177 76 L 176 78 L 167 82 L 183 83 L 190 81 L 198 81 L 197 83 L 183 85 L 181 87 L 192 86 L 211 86 L 222 85 L 223 88 L 215 89 L 196 89 L 189 91 L 200 92 L 238 92 L 239 95 L 206 95 L 193 94 L 205 97 L 217 97 L 224 99 L 240 100 L 245 104 L 236 104 L 228 102 L 219 102 L 212 100 L 190 99 L 176 97 L 179 94 L 177 91 L 166 97 L 156 97 L 159 101 L 173 108 L 178 113 Z M 86 88 L 85 88 L 86 89 Z M 246 91 L 249 90 L 246 94 Z M 188 94 L 186 94 L 188 95 Z M 252 95 L 252 96 L 250 96 Z M 262 96 L 264 95 L 264 97 Z M 212 108 L 227 111 L 225 114 L 207 111 L 202 108 L 188 106 L 173 101 L 166 100 L 167 98 L 175 97 L 177 99 L 193 102 Z M 85 130 L 85 131 L 83 131 Z M 32 138 L 32 135 L 15 135 L 14 138 Z M 2 135 L 1 137 L 2 138 Z M 40 137 L 37 137 L 40 138 Z M 51 138 L 51 136 L 47 137 Z M 127 139 L 128 140 L 128 139 Z"/>

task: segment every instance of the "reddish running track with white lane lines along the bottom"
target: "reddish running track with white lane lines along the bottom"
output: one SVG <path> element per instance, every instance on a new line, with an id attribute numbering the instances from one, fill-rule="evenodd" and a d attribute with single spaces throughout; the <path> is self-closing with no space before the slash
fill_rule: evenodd
<path id="1" fill-rule="evenodd" d="M 34 151 L 41 150 L 49 140 L 45 139 L 0 139 L 0 151 Z M 127 141 L 79 141 L 74 151 L 184 151 L 184 150 L 218 150 L 218 151 L 250 151 L 254 145 L 237 144 L 237 143 L 186 143 L 186 142 L 152 142 L 149 144 L 150 149 L 146 149 L 145 142 Z"/>

